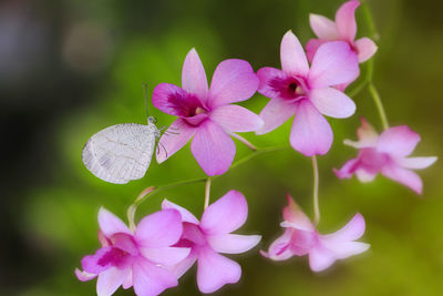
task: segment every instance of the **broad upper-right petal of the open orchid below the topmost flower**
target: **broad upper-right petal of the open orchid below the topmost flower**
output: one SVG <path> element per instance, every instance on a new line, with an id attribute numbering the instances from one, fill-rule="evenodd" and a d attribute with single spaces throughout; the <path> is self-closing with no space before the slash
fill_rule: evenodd
<path id="1" fill-rule="evenodd" d="M 359 61 L 351 47 L 343 41 L 322 44 L 312 60 L 309 84 L 326 88 L 356 80 L 360 74 Z"/>

